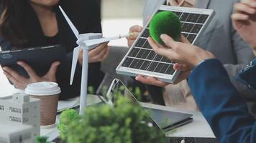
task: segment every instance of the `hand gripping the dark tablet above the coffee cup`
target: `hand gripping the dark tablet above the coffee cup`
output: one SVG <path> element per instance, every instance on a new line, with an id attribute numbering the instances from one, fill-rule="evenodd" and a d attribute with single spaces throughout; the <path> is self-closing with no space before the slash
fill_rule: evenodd
<path id="1" fill-rule="evenodd" d="M 50 66 L 49 71 L 43 77 L 37 76 L 32 67 L 26 64 L 24 61 L 18 61 L 17 64 L 19 64 L 19 66 L 22 66 L 27 71 L 27 74 L 29 75 L 28 79 L 19 75 L 16 71 L 7 66 L 3 67 L 4 74 L 17 89 L 25 89 L 28 84 L 32 84 L 35 82 L 57 82 L 55 74 L 58 66 L 60 65 L 60 61 L 53 62 Z"/>

